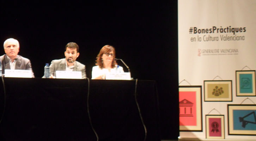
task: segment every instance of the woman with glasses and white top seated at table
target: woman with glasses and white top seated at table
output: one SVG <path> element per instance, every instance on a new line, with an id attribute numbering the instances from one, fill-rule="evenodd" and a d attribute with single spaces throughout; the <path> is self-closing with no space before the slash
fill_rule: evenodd
<path id="1" fill-rule="evenodd" d="M 111 45 L 105 45 L 96 57 L 97 66 L 92 67 L 92 79 L 105 79 L 106 73 L 124 72 L 115 61 L 116 51 Z"/>

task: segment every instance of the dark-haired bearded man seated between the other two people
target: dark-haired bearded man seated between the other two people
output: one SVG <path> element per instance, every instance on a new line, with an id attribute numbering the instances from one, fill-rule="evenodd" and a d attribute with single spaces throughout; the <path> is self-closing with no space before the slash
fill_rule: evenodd
<path id="1" fill-rule="evenodd" d="M 56 71 L 80 71 L 82 72 L 82 78 L 85 79 L 85 65 L 75 61 L 80 55 L 78 44 L 70 42 L 66 45 L 65 50 L 64 54 L 66 58 L 51 61 L 50 73 Z"/>

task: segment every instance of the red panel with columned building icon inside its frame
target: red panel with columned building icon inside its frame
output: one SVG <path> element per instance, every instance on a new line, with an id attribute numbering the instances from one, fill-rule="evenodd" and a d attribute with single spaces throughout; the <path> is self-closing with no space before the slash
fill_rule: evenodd
<path id="1" fill-rule="evenodd" d="M 179 92 L 179 125 L 196 126 L 196 92 Z"/>

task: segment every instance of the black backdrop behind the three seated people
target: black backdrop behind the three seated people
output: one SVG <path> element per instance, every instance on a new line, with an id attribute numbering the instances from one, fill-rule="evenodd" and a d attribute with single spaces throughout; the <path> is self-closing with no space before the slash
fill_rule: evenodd
<path id="1" fill-rule="evenodd" d="M 89 78 L 100 48 L 114 46 L 116 57 L 126 62 L 132 78 L 156 80 L 161 139 L 177 139 L 177 1 L 1 0 L 0 14 L 0 43 L 17 39 L 19 55 L 31 60 L 38 78 L 43 76 L 45 63 L 65 57 L 68 42 L 79 45 L 77 61 L 86 65 Z M 117 63 L 127 72 L 122 62 Z"/>

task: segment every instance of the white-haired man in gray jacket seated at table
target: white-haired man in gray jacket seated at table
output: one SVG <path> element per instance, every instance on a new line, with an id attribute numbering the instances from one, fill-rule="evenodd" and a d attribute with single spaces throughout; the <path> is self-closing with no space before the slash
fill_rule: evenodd
<path id="1" fill-rule="evenodd" d="M 4 50 L 5 55 L 0 56 L 2 74 L 5 73 L 5 69 L 23 69 L 32 71 L 30 60 L 18 55 L 19 42 L 17 39 L 9 38 L 5 40 Z M 32 77 L 35 77 L 33 71 Z"/>

